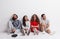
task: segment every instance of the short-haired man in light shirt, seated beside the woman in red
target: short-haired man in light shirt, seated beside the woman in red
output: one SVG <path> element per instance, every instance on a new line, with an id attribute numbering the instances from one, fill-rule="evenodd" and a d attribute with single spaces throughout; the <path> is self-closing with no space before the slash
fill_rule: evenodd
<path id="1" fill-rule="evenodd" d="M 49 20 L 47 20 L 46 19 L 46 15 L 45 14 L 42 14 L 41 15 L 41 20 L 40 20 L 40 22 L 41 22 L 41 31 L 43 32 L 43 31 L 45 31 L 46 33 L 48 33 L 48 34 L 50 34 L 51 33 L 51 31 L 50 31 L 50 29 L 49 29 Z"/>

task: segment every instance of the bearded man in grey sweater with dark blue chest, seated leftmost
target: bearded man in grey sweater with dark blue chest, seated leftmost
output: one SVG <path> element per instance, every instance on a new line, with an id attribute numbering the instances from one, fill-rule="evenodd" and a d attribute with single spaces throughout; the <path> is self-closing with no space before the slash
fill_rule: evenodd
<path id="1" fill-rule="evenodd" d="M 9 32 L 15 33 L 21 30 L 21 21 L 18 20 L 18 16 L 13 14 L 12 18 L 9 20 Z"/>

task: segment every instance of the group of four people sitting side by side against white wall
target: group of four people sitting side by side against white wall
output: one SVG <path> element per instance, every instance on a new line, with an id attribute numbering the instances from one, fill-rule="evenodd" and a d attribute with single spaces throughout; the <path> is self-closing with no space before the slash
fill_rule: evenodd
<path id="1" fill-rule="evenodd" d="M 18 19 L 17 14 L 13 14 L 12 18 L 9 20 L 9 32 L 15 33 L 16 30 L 22 33 L 22 35 L 29 35 L 32 32 L 34 35 L 38 35 L 39 32 L 51 33 L 49 29 L 49 20 L 46 18 L 45 14 L 41 14 L 41 18 L 37 14 L 33 14 L 31 19 L 28 19 L 27 15 L 24 15 L 22 21 Z"/>

